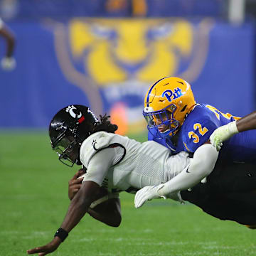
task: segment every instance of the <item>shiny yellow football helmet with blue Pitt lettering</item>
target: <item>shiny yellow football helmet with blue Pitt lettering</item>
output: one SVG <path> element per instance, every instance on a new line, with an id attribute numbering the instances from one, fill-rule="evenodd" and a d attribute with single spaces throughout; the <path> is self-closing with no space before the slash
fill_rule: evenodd
<path id="1" fill-rule="evenodd" d="M 149 132 L 157 128 L 159 137 L 173 136 L 195 105 L 188 82 L 175 77 L 160 79 L 146 92 L 143 114 Z"/>

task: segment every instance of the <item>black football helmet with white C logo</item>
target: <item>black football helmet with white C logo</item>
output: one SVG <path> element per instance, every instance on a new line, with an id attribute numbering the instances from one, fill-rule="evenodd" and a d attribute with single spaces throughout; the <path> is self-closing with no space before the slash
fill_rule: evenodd
<path id="1" fill-rule="evenodd" d="M 80 146 L 98 122 L 89 107 L 82 105 L 69 105 L 55 114 L 49 126 L 50 143 L 63 164 L 81 164 Z"/>

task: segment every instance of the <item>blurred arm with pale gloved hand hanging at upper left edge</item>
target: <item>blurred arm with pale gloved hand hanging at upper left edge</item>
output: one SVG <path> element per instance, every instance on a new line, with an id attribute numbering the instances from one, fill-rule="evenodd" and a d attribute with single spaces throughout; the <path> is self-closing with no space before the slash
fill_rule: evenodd
<path id="1" fill-rule="evenodd" d="M 6 54 L 1 59 L 1 68 L 6 71 L 13 70 L 16 67 L 16 60 L 14 59 L 15 37 L 10 28 L 6 26 L 4 21 L 0 18 L 0 36 L 6 41 Z"/>

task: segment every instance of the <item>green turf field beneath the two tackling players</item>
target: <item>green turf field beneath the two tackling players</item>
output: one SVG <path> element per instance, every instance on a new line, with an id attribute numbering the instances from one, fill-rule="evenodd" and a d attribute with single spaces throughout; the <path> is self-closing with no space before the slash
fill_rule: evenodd
<path id="1" fill-rule="evenodd" d="M 58 161 L 45 132 L 0 132 L 0 255 L 26 255 L 53 238 L 76 170 Z M 135 209 L 133 198 L 121 193 L 119 228 L 85 215 L 53 255 L 256 255 L 256 230 L 164 199 Z"/>

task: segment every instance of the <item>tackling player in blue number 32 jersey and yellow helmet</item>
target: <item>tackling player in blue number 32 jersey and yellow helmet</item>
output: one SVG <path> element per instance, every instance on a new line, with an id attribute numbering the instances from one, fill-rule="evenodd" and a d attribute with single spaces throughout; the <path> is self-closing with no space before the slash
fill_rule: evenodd
<path id="1" fill-rule="evenodd" d="M 148 123 L 149 140 L 169 147 L 173 154 L 188 151 L 201 154 L 198 169 L 188 168 L 161 186 L 142 188 L 135 197 L 135 206 L 141 207 L 151 198 L 183 191 L 208 176 L 210 166 L 218 162 L 242 162 L 256 164 L 256 131 L 235 134 L 224 144 L 220 152 L 209 144 L 215 129 L 240 119 L 224 114 L 215 107 L 198 104 L 191 86 L 181 78 L 162 78 L 146 92 L 144 117 Z M 204 168 L 199 168 L 205 166 Z M 200 171 L 198 171 L 200 169 Z"/>

